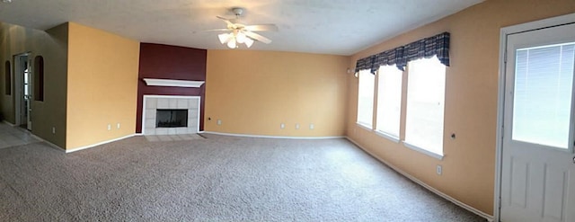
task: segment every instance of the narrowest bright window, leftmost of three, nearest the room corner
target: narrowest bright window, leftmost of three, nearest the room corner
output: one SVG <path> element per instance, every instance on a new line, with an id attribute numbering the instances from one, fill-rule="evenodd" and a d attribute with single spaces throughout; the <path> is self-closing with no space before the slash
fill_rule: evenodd
<path id="1" fill-rule="evenodd" d="M 374 90 L 376 75 L 368 70 L 359 71 L 358 124 L 371 128 L 374 116 Z"/>

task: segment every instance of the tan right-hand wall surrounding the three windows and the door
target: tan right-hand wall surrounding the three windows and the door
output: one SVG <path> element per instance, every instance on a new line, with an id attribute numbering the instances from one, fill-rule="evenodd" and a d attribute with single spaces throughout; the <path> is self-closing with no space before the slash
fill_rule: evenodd
<path id="1" fill-rule="evenodd" d="M 488 0 L 438 22 L 409 31 L 351 58 L 358 58 L 451 32 L 443 161 L 396 144 L 355 123 L 358 80 L 349 78 L 347 134 L 377 157 L 451 197 L 487 214 L 493 212 L 500 28 L 575 12 L 572 0 Z M 403 111 L 403 120 L 405 111 Z M 402 132 L 404 126 L 402 125 Z M 449 135 L 456 133 L 456 139 Z M 402 133 L 402 138 L 403 138 Z M 437 164 L 443 174 L 437 175 Z"/>

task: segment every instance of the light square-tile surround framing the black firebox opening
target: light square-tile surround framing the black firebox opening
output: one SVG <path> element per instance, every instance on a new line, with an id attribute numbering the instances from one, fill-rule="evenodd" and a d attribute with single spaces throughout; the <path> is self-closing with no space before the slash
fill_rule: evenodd
<path id="1" fill-rule="evenodd" d="M 144 95 L 142 111 L 143 135 L 178 135 L 199 132 L 199 96 Z M 156 128 L 155 114 L 158 109 L 187 109 L 188 127 Z"/>

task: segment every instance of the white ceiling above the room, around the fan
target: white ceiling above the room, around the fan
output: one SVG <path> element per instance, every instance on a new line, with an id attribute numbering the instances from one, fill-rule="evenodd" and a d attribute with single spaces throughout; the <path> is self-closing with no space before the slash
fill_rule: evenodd
<path id="1" fill-rule="evenodd" d="M 3 0 L 5 2 L 7 0 Z M 227 49 L 217 15 L 246 24 L 275 23 L 273 40 L 251 49 L 352 55 L 483 0 L 12 0 L 0 2 L 0 22 L 47 30 L 77 22 L 142 42 Z M 199 32 L 197 32 L 199 31 Z M 242 48 L 241 48 L 242 49 Z"/>

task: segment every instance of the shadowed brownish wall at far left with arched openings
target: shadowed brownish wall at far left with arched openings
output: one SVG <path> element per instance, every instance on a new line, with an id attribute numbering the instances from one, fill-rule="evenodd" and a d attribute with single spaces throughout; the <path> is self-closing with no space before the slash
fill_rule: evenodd
<path id="1" fill-rule="evenodd" d="M 30 58 L 44 58 L 44 101 L 31 102 L 32 133 L 49 142 L 64 147 L 66 135 L 66 64 L 67 64 L 67 25 L 58 25 L 48 31 L 38 31 L 0 22 L 0 106 L 2 115 L 8 122 L 15 123 L 14 96 L 4 93 L 4 62 L 13 56 L 30 52 Z M 13 75 L 14 69 L 12 70 Z M 14 81 L 14 78 L 12 78 Z M 34 83 L 32 83 L 34 84 Z M 15 90 L 14 85 L 12 86 Z M 51 128 L 57 133 L 52 134 Z M 62 133 L 61 133 L 62 132 Z"/>

